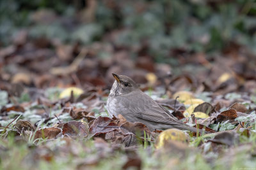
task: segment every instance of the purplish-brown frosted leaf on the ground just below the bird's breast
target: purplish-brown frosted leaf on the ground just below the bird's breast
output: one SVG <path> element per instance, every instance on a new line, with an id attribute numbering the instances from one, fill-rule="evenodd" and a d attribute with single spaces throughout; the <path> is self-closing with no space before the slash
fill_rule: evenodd
<path id="1" fill-rule="evenodd" d="M 117 129 L 116 123 L 108 117 L 98 117 L 90 126 L 90 134 L 93 136 L 98 134 L 106 134 L 107 132 L 115 131 Z"/>

